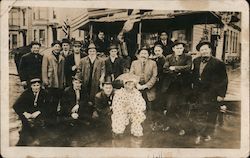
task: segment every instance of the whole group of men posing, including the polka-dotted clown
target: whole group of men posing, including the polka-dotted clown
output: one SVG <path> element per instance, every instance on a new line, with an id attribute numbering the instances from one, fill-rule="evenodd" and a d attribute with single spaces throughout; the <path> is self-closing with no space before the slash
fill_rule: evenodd
<path id="1" fill-rule="evenodd" d="M 86 52 L 81 52 L 80 41 L 73 42 L 73 51 L 68 39 L 54 41 L 52 52 L 43 56 L 41 45 L 32 42 L 31 53 L 22 56 L 19 66 L 22 85 L 28 88 L 14 104 L 23 130 L 34 134 L 30 122 L 43 120 L 39 124 L 44 126 L 58 116 L 69 118 L 70 125 L 72 120 L 74 125 L 99 118 L 114 136 L 122 135 L 131 122 L 131 134 L 141 137 L 147 109 L 163 114 L 164 130 L 173 128 L 184 135 L 188 127 L 183 122 L 191 111 L 195 143 L 211 140 L 218 102 L 228 84 L 225 64 L 212 56 L 211 43 L 200 41 L 200 57 L 192 60 L 184 51 L 185 41 L 172 42 L 162 32 L 152 54 L 141 48 L 133 60 L 122 33 L 118 39 L 108 44 L 100 31 Z M 190 103 L 195 106 L 190 108 Z M 157 117 L 150 119 L 157 122 Z"/>

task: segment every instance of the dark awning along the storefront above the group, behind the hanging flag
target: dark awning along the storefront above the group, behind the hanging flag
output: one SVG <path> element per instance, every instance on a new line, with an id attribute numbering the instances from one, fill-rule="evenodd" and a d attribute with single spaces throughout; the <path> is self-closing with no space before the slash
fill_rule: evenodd
<path id="1" fill-rule="evenodd" d="M 124 11 L 117 13 L 118 15 L 116 16 L 89 19 L 88 23 L 82 23 L 78 29 L 89 30 L 88 25 L 91 24 L 94 32 L 102 29 L 107 33 L 118 33 L 129 18 L 126 13 Z M 223 25 L 220 17 L 211 11 L 151 11 L 142 15 L 136 14 L 132 16 L 141 19 L 142 32 L 158 32 L 164 29 L 171 30 L 195 24 Z M 138 23 L 135 24 L 134 28 L 138 28 Z"/>

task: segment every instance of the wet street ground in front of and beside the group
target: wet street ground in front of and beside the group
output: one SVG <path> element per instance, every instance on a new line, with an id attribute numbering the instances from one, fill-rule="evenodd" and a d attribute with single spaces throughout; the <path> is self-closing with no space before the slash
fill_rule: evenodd
<path id="1" fill-rule="evenodd" d="M 13 60 L 9 60 L 10 83 L 9 83 L 9 120 L 10 120 L 10 145 L 15 146 L 19 140 L 21 122 L 12 109 L 13 103 L 23 92 L 20 86 L 16 67 Z M 202 142 L 199 145 L 194 143 L 195 136 L 192 130 L 187 130 L 186 135 L 179 136 L 173 129 L 168 131 L 152 131 L 150 120 L 143 123 L 144 136 L 136 139 L 129 134 L 130 127 L 127 127 L 124 136 L 120 139 L 113 139 L 109 131 L 93 125 L 83 126 L 73 132 L 74 140 L 69 139 L 70 128 L 50 128 L 41 135 L 40 146 L 71 146 L 71 147 L 143 147 L 143 148 L 240 148 L 240 68 L 232 70 L 228 68 L 229 86 L 226 95 L 226 104 L 231 107 L 233 113 L 224 115 L 224 125 L 216 125 L 213 139 L 209 142 Z M 158 115 L 157 112 L 150 112 L 150 115 Z M 148 116 L 148 113 L 147 113 Z M 149 117 L 148 117 L 149 118 Z M 35 141 L 35 140 L 34 140 Z"/>

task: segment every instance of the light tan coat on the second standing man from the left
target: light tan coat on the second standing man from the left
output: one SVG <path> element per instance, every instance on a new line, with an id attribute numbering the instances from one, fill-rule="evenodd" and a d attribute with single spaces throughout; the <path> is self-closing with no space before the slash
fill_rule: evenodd
<path id="1" fill-rule="evenodd" d="M 51 88 L 63 88 L 65 85 L 64 57 L 60 54 L 59 60 L 52 52 L 44 54 L 42 62 L 42 79 L 45 85 Z"/>

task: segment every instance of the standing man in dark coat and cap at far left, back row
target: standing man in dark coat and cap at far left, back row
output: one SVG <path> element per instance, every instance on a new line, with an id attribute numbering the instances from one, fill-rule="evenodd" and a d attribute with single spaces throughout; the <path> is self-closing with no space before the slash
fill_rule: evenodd
<path id="1" fill-rule="evenodd" d="M 19 76 L 22 86 L 26 87 L 27 82 L 33 76 L 42 77 L 42 55 L 39 53 L 41 44 L 33 41 L 31 42 L 31 52 L 22 56 L 19 65 Z"/>

